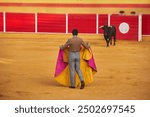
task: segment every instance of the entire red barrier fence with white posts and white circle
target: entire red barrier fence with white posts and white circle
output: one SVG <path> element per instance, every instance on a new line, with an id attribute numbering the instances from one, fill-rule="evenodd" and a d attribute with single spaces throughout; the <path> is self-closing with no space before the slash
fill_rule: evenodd
<path id="1" fill-rule="evenodd" d="M 117 39 L 141 41 L 142 34 L 150 35 L 150 14 L 0 13 L 0 32 L 68 34 L 73 28 L 78 28 L 80 33 L 100 34 L 103 31 L 99 26 L 104 24 L 116 26 Z"/>

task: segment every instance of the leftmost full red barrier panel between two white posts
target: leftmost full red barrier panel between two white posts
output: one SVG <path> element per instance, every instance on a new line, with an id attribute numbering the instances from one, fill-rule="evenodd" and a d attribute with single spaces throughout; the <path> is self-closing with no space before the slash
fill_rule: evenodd
<path id="1" fill-rule="evenodd" d="M 6 31 L 34 32 L 35 15 L 29 13 L 6 13 Z"/>

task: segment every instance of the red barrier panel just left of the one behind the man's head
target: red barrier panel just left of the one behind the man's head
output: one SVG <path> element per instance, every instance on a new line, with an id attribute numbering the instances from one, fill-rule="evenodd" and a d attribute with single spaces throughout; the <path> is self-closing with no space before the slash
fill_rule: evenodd
<path id="1" fill-rule="evenodd" d="M 65 14 L 38 14 L 38 32 L 66 32 Z"/>

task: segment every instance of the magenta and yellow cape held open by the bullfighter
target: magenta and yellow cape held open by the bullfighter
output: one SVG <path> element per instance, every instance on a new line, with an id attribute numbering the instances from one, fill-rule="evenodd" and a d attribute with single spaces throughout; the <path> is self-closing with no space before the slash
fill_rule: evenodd
<path id="1" fill-rule="evenodd" d="M 64 86 L 70 86 L 68 54 L 69 54 L 68 49 L 65 50 L 59 49 L 54 74 L 55 80 Z M 93 75 L 97 72 L 97 68 L 91 48 L 90 49 L 81 48 L 80 69 L 83 74 L 85 85 L 92 83 Z M 80 86 L 80 79 L 77 73 L 75 74 L 75 86 L 76 87 Z"/>

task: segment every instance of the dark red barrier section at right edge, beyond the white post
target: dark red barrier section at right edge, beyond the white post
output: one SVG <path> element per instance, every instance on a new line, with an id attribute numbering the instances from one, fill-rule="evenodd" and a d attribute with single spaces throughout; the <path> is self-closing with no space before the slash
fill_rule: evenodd
<path id="1" fill-rule="evenodd" d="M 142 15 L 142 34 L 150 35 L 150 14 Z"/>

